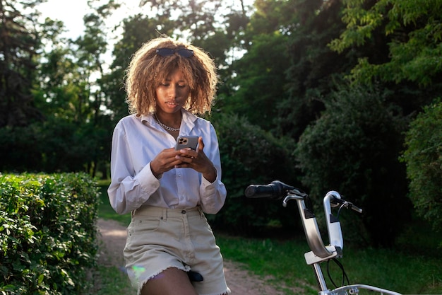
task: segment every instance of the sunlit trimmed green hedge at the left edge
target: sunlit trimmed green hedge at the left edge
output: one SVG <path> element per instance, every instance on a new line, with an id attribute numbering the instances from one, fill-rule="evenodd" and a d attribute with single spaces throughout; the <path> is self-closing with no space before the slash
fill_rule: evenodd
<path id="1" fill-rule="evenodd" d="M 85 173 L 0 175 L 0 294 L 81 294 L 98 199 Z"/>

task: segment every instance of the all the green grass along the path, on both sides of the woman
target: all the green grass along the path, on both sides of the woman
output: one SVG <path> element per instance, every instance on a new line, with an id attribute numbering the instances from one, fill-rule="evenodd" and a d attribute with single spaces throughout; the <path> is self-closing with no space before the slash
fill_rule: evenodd
<path id="1" fill-rule="evenodd" d="M 114 213 L 105 193 L 106 188 L 102 188 L 100 218 L 114 219 L 126 226 L 130 221 L 129 214 L 120 216 Z M 345 267 L 350 283 L 371 284 L 402 294 L 442 294 L 442 255 L 438 254 L 440 249 L 437 248 L 442 237 L 435 236 L 428 227 L 421 224 L 414 226 L 414 229 L 410 228 L 400 238 L 398 249 L 395 250 L 346 244 L 340 262 Z M 228 236 L 216 231 L 215 236 L 225 259 L 241 262 L 246 270 L 262 277 L 276 289 L 285 289 L 282 287 L 285 285 L 287 288 L 301 287 L 304 294 L 318 294 L 313 270 L 304 260 L 304 253 L 309 251 L 304 236 L 290 240 L 253 239 Z M 326 265 L 322 267 L 324 276 L 327 276 Z M 102 289 L 102 293 L 95 294 L 127 294 L 123 290 L 129 288 L 129 281 L 120 270 L 99 266 L 98 271 L 104 282 L 102 285 L 109 282 L 113 288 Z M 340 284 L 342 272 L 338 267 L 330 264 L 330 272 L 333 280 Z M 115 288 L 119 282 L 123 289 Z M 330 279 L 326 278 L 326 282 L 332 289 Z M 285 293 L 292 294 L 287 290 Z"/>

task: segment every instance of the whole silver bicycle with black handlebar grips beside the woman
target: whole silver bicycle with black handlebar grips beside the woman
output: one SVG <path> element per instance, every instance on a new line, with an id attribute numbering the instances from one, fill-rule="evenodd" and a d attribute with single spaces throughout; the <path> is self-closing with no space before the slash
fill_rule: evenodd
<path id="1" fill-rule="evenodd" d="M 366 284 L 350 284 L 348 282 L 347 274 L 337 260 L 342 258 L 342 248 L 344 241 L 342 238 L 342 230 L 339 221 L 339 212 L 342 208 L 353 209 L 355 212 L 362 213 L 362 209 L 358 208 L 351 202 L 347 202 L 341 197 L 339 192 L 330 191 L 323 198 L 324 213 L 326 216 L 328 238 L 330 245 L 325 246 L 318 228 L 316 217 L 310 209 L 306 207 L 306 199 L 308 195 L 291 185 L 275 180 L 268 185 L 249 185 L 244 194 L 246 197 L 258 198 L 268 197 L 270 199 L 282 199 L 282 205 L 287 207 L 287 202 L 294 199 L 297 202 L 299 214 L 301 216 L 302 226 L 306 235 L 307 243 L 309 244 L 310 252 L 304 254 L 307 265 L 312 265 L 315 272 L 316 281 L 318 283 L 318 295 L 358 295 L 359 290 L 374 291 L 378 294 L 386 295 L 401 295 L 398 292 L 381 289 L 378 287 Z M 332 207 L 339 207 L 337 216 L 332 214 Z M 335 289 L 328 289 L 325 278 L 321 269 L 322 262 L 335 261 L 342 270 L 342 286 L 337 287 L 333 279 L 330 281 L 335 285 Z M 345 285 L 345 278 L 347 284 Z"/>

